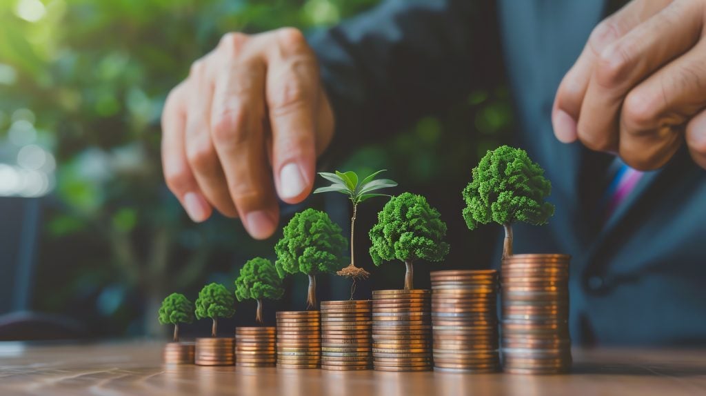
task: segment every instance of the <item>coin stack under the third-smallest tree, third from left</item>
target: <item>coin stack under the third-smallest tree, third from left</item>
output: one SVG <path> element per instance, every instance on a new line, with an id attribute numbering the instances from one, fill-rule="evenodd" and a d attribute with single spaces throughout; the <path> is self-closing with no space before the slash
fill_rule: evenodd
<path id="1" fill-rule="evenodd" d="M 277 363 L 275 352 L 276 328 L 236 328 L 236 366 L 274 367 Z"/>

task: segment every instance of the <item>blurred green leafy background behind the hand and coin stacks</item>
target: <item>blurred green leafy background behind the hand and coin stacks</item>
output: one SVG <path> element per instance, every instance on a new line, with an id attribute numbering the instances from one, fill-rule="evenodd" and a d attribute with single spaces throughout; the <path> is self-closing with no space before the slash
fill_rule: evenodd
<path id="1" fill-rule="evenodd" d="M 31 307 L 76 318 L 96 336 L 154 334 L 170 292 L 193 298 L 205 282 L 232 284 L 249 258 L 273 258 L 278 236 L 253 242 L 239 222 L 218 216 L 197 226 L 164 186 L 164 98 L 225 32 L 306 31 L 377 2 L 0 0 L 0 196 L 44 197 Z M 510 128 L 508 92 L 489 84 L 443 114 L 357 148 L 336 168 L 363 176 L 390 169 L 400 182 L 392 193 L 428 196 L 449 234 L 469 241 L 451 239 L 448 259 L 467 267 L 486 241 L 465 229 L 460 191 Z M 383 204 L 357 223 L 361 241 Z M 330 207 L 321 198 L 307 205 Z M 343 227 L 349 214 L 332 217 Z M 0 227 L 8 224 L 0 219 Z M 368 246 L 357 255 L 366 258 Z M 470 265 L 486 265 L 478 260 Z M 371 270 L 369 260 L 361 263 Z M 11 263 L 0 258 L 2 265 Z M 376 272 L 373 288 L 398 278 Z"/>

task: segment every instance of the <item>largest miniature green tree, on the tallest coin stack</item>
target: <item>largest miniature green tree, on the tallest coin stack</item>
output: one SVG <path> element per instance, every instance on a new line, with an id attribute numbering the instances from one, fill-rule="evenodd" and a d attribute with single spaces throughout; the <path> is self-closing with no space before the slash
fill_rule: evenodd
<path id="1" fill-rule="evenodd" d="M 513 254 L 513 222 L 546 224 L 554 205 L 544 202 L 551 182 L 525 150 L 503 145 L 488 151 L 463 189 L 463 218 L 469 229 L 494 221 L 505 229 L 503 258 Z"/>

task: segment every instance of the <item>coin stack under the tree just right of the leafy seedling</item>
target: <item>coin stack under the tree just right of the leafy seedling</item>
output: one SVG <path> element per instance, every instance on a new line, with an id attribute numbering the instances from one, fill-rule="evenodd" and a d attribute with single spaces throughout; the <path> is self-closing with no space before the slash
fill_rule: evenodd
<path id="1" fill-rule="evenodd" d="M 373 367 L 431 369 L 431 290 L 373 291 Z"/>

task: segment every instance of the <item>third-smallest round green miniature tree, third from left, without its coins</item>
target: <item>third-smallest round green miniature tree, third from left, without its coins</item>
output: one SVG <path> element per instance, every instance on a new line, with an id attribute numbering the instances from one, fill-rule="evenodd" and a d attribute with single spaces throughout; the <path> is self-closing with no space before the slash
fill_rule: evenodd
<path id="1" fill-rule="evenodd" d="M 256 257 L 249 260 L 240 269 L 240 276 L 235 280 L 235 296 L 238 301 L 254 299 L 258 301 L 255 320 L 263 323 L 263 299 L 281 299 L 285 289 L 282 278 L 272 261 Z"/>

